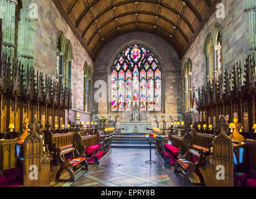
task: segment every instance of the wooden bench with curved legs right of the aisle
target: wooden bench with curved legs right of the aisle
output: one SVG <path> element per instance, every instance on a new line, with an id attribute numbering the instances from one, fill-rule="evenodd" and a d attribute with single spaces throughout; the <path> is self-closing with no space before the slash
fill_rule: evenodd
<path id="1" fill-rule="evenodd" d="M 196 150 L 192 149 L 190 144 L 188 144 L 186 153 L 184 155 L 178 155 L 178 160 L 174 167 L 174 173 L 182 172 L 184 174 L 183 185 L 186 185 L 189 177 L 193 173 L 195 173 L 199 177 L 200 183 L 198 185 L 205 185 L 204 177 L 200 172 L 203 154 L 204 152 L 202 151 L 202 149 L 197 152 Z M 197 157 L 196 161 L 193 161 L 193 156 Z M 179 167 L 181 167 L 182 170 L 178 170 Z"/>

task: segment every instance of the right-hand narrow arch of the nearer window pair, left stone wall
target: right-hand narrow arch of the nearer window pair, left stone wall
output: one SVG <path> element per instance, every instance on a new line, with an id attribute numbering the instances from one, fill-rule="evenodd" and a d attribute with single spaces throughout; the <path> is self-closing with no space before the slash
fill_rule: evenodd
<path id="1" fill-rule="evenodd" d="M 65 47 L 65 86 L 71 88 L 71 68 L 72 68 L 72 47 L 70 44 L 70 40 L 67 40 Z"/>

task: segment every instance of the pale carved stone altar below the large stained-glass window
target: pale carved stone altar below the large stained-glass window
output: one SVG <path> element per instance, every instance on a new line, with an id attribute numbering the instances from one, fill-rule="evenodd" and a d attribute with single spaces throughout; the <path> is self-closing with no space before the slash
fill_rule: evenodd
<path id="1" fill-rule="evenodd" d="M 121 123 L 121 133 L 150 133 L 151 123 L 148 111 L 139 111 L 137 105 L 133 111 L 123 113 L 123 123 Z"/>

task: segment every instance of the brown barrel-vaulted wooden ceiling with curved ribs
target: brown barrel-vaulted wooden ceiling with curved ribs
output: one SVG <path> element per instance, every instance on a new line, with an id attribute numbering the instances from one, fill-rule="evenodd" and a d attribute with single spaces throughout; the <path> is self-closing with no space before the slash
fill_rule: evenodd
<path id="1" fill-rule="evenodd" d="M 220 0 L 52 0 L 95 60 L 118 35 L 149 32 L 171 44 L 181 58 Z"/>

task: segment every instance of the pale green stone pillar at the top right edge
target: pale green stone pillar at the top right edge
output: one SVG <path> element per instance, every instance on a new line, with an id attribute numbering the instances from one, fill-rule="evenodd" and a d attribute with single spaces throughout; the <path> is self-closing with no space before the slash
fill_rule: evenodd
<path id="1" fill-rule="evenodd" d="M 249 24 L 249 42 L 250 51 L 254 52 L 256 50 L 256 1 L 246 0 L 245 2 L 245 12 L 247 13 L 247 22 Z"/>

